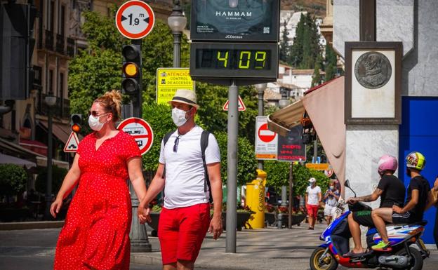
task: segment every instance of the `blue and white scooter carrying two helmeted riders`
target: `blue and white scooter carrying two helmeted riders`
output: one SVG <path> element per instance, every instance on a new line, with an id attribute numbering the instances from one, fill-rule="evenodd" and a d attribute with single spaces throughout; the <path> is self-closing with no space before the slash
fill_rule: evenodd
<path id="1" fill-rule="evenodd" d="M 356 197 L 356 193 L 350 188 L 350 182 L 345 181 L 345 187 L 349 188 Z M 361 254 L 346 257 L 350 251 L 351 233 L 348 228 L 348 215 L 350 212 L 371 210 L 364 203 L 348 205 L 349 210 L 344 212 L 344 200 L 339 198 L 336 205 L 336 214 L 333 222 L 319 236 L 324 244 L 319 245 L 310 257 L 310 269 L 334 270 L 338 265 L 350 268 L 377 268 L 389 269 L 412 269 L 423 268 L 423 259 L 429 257 L 430 251 L 425 247 L 423 235 L 426 221 L 415 224 L 388 224 L 386 229 L 391 241 L 391 249 L 385 251 L 372 250 L 371 246 L 381 240 L 376 228 L 370 228 L 366 233 L 367 251 Z"/>

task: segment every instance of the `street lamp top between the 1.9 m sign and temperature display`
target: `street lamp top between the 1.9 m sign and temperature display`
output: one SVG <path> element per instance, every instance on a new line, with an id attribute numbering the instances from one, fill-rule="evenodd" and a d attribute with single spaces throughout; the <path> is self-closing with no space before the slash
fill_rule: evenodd
<path id="1" fill-rule="evenodd" d="M 173 34 L 173 67 L 180 67 L 181 36 L 185 25 L 187 25 L 187 18 L 185 18 L 179 0 L 173 0 L 173 9 L 167 18 L 167 24 L 171 27 Z"/>

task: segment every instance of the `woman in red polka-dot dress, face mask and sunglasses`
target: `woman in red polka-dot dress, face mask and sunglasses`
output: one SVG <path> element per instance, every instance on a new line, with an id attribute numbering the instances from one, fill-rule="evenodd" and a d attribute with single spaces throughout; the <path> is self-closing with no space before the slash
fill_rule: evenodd
<path id="1" fill-rule="evenodd" d="M 112 90 L 93 102 L 88 118 L 93 133 L 79 143 L 72 168 L 55 201 L 56 217 L 62 199 L 77 182 L 55 254 L 56 270 L 129 269 L 131 244 L 131 180 L 141 200 L 146 194 L 138 145 L 115 128 L 121 112 L 121 94 Z"/>

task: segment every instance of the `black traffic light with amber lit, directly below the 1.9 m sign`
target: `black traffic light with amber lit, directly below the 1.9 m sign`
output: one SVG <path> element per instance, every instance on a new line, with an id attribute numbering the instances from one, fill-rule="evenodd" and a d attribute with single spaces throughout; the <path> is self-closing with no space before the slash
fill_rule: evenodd
<path id="1" fill-rule="evenodd" d="M 123 55 L 121 90 L 128 95 L 138 95 L 141 86 L 140 45 L 125 45 Z"/>

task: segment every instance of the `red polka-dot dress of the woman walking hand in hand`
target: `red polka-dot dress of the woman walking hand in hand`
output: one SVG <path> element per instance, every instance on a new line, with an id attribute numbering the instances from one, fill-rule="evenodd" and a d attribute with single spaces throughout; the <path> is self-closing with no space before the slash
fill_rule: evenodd
<path id="1" fill-rule="evenodd" d="M 129 269 L 131 197 L 127 161 L 141 156 L 122 131 L 95 149 L 95 133 L 79 143 L 79 187 L 58 238 L 55 270 Z"/>

